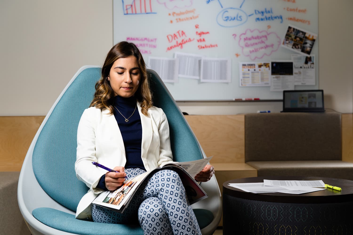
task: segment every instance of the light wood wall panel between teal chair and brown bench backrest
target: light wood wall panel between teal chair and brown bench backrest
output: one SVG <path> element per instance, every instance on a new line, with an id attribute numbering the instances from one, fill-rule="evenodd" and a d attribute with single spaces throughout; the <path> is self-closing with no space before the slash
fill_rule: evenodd
<path id="1" fill-rule="evenodd" d="M 244 162 L 244 115 L 185 115 L 211 163 Z"/>

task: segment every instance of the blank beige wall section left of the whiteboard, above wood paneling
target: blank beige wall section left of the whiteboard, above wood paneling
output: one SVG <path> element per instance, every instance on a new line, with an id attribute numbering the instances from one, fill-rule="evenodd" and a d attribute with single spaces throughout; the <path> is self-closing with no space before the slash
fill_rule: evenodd
<path id="1" fill-rule="evenodd" d="M 46 115 L 113 44 L 112 0 L 1 0 L 0 22 L 0 116 Z"/>

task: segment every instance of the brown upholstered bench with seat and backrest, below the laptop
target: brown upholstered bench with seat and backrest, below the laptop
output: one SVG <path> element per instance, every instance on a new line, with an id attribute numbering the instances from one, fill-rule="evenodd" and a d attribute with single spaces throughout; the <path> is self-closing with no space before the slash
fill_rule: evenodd
<path id="1" fill-rule="evenodd" d="M 245 162 L 258 176 L 318 176 L 353 180 L 342 161 L 341 114 L 245 115 Z"/>

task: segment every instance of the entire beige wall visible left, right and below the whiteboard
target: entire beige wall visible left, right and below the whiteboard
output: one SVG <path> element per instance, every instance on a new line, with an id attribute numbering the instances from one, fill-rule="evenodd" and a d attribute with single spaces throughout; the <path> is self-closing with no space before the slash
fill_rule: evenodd
<path id="1" fill-rule="evenodd" d="M 353 109 L 352 9 L 352 0 L 319 0 L 319 88 L 326 107 L 340 112 Z M 112 19 L 112 0 L 0 1 L 0 116 L 46 115 L 81 66 L 103 63 Z M 178 104 L 208 115 L 282 109 L 281 102 Z"/>

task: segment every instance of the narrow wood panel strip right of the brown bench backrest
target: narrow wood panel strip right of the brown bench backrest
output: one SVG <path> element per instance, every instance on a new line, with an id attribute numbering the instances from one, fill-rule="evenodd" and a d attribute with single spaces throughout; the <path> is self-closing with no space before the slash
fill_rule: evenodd
<path id="1" fill-rule="evenodd" d="M 342 114 L 342 160 L 353 162 L 353 115 Z"/>

